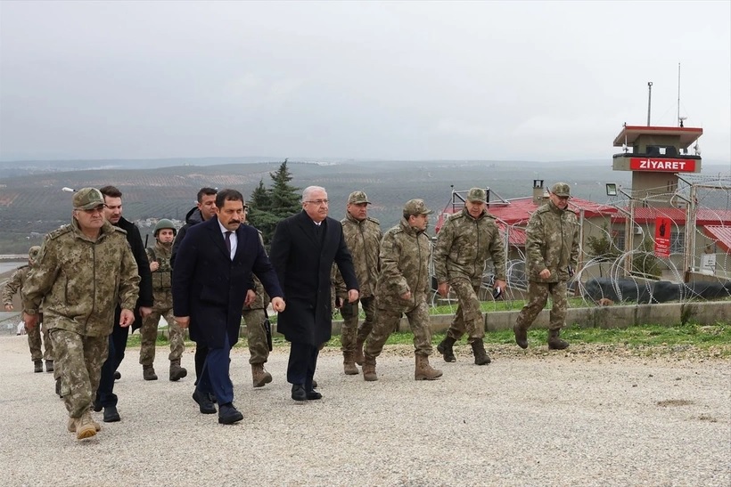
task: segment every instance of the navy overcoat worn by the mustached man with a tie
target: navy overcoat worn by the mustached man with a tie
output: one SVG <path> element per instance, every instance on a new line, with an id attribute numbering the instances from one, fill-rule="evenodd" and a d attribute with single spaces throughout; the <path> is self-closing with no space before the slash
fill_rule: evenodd
<path id="1" fill-rule="evenodd" d="M 229 345 L 238 341 L 243 301 L 253 289 L 252 272 L 269 296 L 283 296 L 259 231 L 241 225 L 236 237 L 231 260 L 218 218 L 211 218 L 190 227 L 177 252 L 173 313 L 189 316 L 191 339 L 209 348 L 223 348 L 226 333 Z"/>

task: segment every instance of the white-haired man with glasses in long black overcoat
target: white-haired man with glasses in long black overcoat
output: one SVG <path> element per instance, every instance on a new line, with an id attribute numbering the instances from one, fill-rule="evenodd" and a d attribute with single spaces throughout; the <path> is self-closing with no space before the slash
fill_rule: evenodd
<path id="1" fill-rule="evenodd" d="M 348 300 L 358 298 L 356 272 L 342 225 L 327 216 L 324 188 L 310 186 L 302 192 L 302 211 L 276 225 L 270 258 L 287 296 L 287 310 L 280 312 L 276 329 L 292 343 L 287 381 L 292 399 L 321 399 L 312 386 L 317 355 L 332 333 L 330 270 L 338 265 L 348 288 Z"/>

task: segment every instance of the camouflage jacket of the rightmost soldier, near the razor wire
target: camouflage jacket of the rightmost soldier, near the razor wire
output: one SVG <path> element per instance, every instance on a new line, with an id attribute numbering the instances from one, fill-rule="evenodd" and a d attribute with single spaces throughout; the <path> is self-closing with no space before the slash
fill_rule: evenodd
<path id="1" fill-rule="evenodd" d="M 562 210 L 549 201 L 530 217 L 525 231 L 525 267 L 529 280 L 558 282 L 569 280 L 569 268 L 579 264 L 579 223 L 571 210 Z M 538 275 L 551 271 L 548 279 Z"/>

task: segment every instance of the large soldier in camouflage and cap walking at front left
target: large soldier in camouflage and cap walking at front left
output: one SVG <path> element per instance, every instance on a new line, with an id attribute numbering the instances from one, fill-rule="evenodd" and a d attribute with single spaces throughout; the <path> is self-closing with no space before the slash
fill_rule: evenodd
<path id="1" fill-rule="evenodd" d="M 121 304 L 121 326 L 135 321 L 132 309 L 140 277 L 125 232 L 104 220 L 102 193 L 79 190 L 73 206 L 71 223 L 45 237 L 26 281 L 23 321 L 29 328 L 37 326 L 43 302 L 69 411 L 67 427 L 81 440 L 101 429 L 91 408 L 107 358 L 115 307 Z"/>

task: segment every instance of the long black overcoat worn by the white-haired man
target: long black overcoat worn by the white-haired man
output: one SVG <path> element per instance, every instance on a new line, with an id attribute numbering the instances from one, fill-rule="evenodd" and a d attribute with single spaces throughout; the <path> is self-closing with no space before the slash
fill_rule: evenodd
<path id="1" fill-rule="evenodd" d="M 269 256 L 287 303 L 279 313 L 276 330 L 290 342 L 320 345 L 332 336 L 333 262 L 338 265 L 346 288 L 358 288 L 341 223 L 326 218 L 323 225 L 323 234 L 318 238 L 315 223 L 302 210 L 278 223 L 272 239 Z"/>

